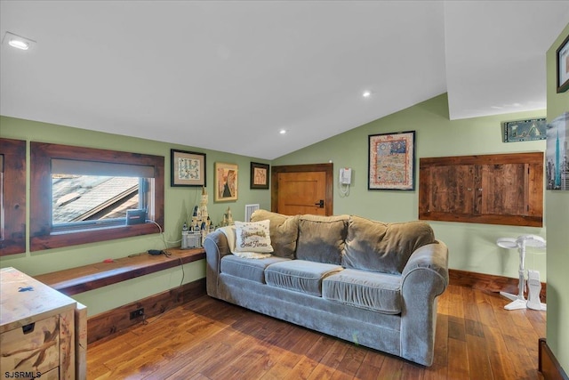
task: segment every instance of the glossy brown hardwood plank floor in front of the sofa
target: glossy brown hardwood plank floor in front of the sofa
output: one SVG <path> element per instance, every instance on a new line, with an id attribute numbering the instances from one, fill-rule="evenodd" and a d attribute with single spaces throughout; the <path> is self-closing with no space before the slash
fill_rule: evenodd
<path id="1" fill-rule="evenodd" d="M 451 285 L 438 300 L 432 367 L 206 295 L 89 344 L 89 379 L 538 379 L 545 311 Z"/>

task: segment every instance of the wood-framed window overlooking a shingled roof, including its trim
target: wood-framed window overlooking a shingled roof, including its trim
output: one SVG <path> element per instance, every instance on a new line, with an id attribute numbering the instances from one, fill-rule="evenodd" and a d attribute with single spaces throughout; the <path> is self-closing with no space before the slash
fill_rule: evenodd
<path id="1" fill-rule="evenodd" d="M 31 251 L 156 233 L 155 222 L 164 157 L 31 143 Z"/>

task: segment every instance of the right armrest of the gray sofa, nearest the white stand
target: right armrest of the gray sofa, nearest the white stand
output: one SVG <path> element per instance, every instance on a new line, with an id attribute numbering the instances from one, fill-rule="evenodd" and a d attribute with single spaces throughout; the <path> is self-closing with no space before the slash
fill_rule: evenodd
<path id="1" fill-rule="evenodd" d="M 413 252 L 402 273 L 401 355 L 430 366 L 435 348 L 437 296 L 448 286 L 448 248 L 442 241 Z"/>

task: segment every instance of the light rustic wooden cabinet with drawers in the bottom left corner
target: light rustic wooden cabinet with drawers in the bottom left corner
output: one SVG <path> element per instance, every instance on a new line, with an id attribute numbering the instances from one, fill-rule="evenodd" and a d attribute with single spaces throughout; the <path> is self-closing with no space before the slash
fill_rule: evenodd
<path id="1" fill-rule="evenodd" d="M 2 377 L 84 378 L 76 345 L 86 347 L 86 308 L 14 268 L 0 270 L 0 281 Z"/>

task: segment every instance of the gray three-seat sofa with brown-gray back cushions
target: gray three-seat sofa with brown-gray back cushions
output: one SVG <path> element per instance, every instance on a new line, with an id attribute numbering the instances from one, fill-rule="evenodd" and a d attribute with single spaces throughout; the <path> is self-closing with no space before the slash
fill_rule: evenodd
<path id="1" fill-rule="evenodd" d="M 448 250 L 428 223 L 252 214 L 252 222 L 265 220 L 274 250 L 269 257 L 232 255 L 222 230 L 207 236 L 208 295 L 432 364 Z"/>

